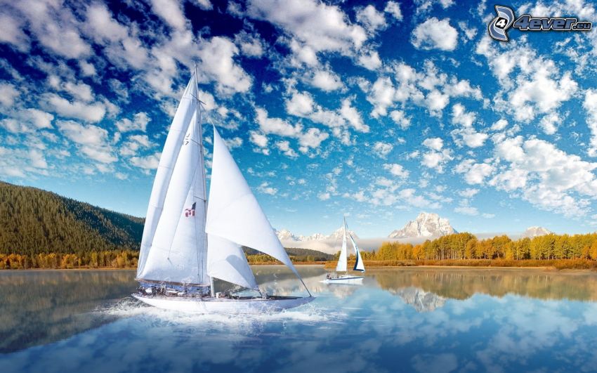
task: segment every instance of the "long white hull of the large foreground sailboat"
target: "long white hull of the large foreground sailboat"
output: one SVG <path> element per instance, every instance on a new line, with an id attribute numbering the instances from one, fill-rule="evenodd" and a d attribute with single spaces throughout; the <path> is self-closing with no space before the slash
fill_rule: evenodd
<path id="1" fill-rule="evenodd" d="M 132 294 L 133 297 L 150 306 L 166 310 L 178 310 L 188 313 L 264 313 L 280 312 L 289 308 L 302 306 L 313 301 L 313 296 L 276 296 L 273 298 L 228 299 L 228 298 L 183 298 L 169 296 L 143 296 Z"/>

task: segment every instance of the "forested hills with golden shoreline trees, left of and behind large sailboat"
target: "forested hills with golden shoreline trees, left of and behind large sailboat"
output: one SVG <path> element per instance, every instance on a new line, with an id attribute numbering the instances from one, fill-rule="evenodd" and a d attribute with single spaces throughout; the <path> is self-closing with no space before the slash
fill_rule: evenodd
<path id="1" fill-rule="evenodd" d="M 53 192 L 0 181 L 0 269 L 135 268 L 143 218 Z M 320 251 L 287 249 L 293 261 L 326 261 Z M 250 263 L 275 261 L 247 249 Z"/>

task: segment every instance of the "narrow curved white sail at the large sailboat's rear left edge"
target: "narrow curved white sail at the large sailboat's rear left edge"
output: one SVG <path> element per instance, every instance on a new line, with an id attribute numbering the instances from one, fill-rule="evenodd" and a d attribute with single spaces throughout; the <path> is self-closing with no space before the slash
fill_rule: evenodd
<path id="1" fill-rule="evenodd" d="M 150 251 L 157 224 L 162 216 L 166 192 L 170 184 L 174 164 L 178 158 L 178 152 L 181 150 L 183 138 L 188 129 L 192 117 L 197 111 L 197 81 L 193 75 L 185 89 L 181 103 L 176 109 L 174 119 L 170 126 L 162 157 L 159 159 L 159 166 L 155 174 L 155 180 L 151 191 L 149 205 L 147 206 L 147 215 L 145 215 L 145 227 L 143 228 L 143 238 L 139 252 L 139 262 L 137 266 L 137 277 L 143 273 L 147 254 Z"/>

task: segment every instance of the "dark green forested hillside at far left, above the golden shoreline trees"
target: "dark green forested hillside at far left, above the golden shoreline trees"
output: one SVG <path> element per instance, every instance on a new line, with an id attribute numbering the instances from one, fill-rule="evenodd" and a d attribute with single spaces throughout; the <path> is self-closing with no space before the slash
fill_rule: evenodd
<path id="1" fill-rule="evenodd" d="M 0 182 L 0 254 L 138 250 L 143 220 Z"/>

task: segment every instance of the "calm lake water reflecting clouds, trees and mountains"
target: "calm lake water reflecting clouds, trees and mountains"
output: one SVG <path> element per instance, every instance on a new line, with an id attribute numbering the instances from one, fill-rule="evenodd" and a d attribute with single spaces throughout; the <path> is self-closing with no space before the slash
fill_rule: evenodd
<path id="1" fill-rule="evenodd" d="M 257 316 L 144 306 L 130 270 L 0 271 L 0 372 L 590 372 L 597 273 L 401 268 Z M 300 294 L 285 268 L 258 283 Z M 222 284 L 218 284 L 222 286 Z"/>

